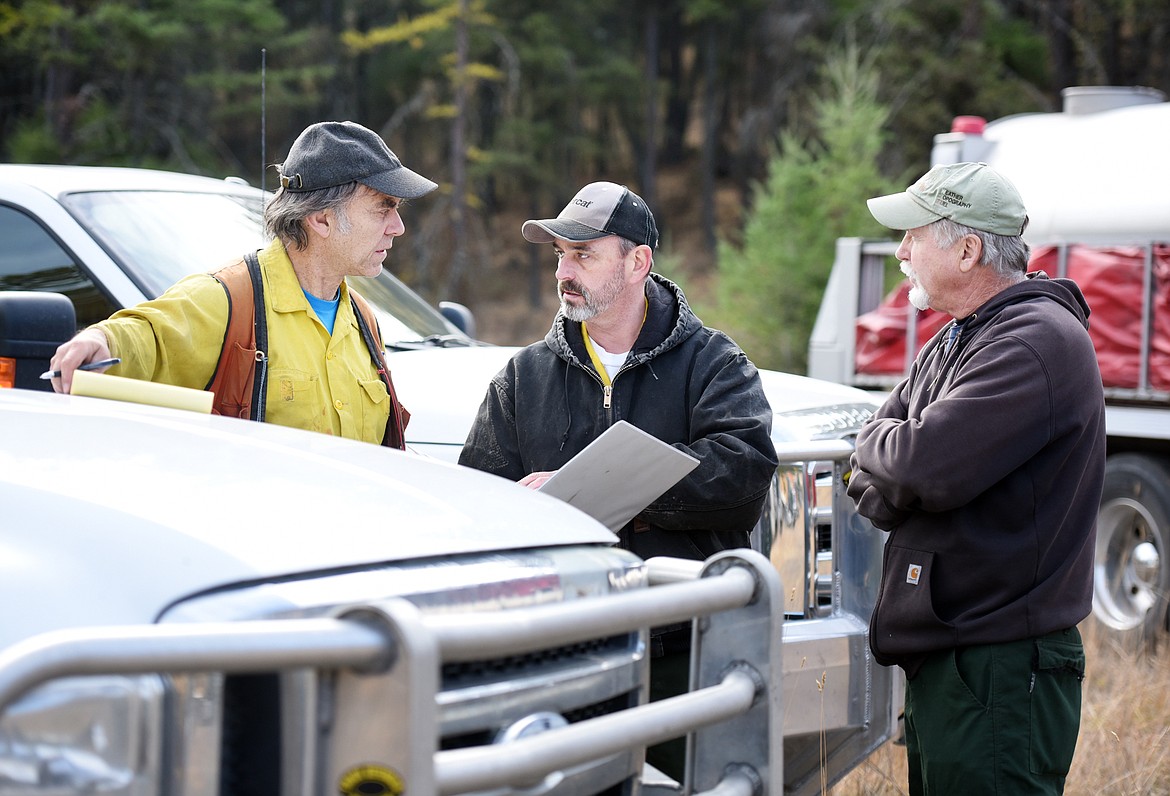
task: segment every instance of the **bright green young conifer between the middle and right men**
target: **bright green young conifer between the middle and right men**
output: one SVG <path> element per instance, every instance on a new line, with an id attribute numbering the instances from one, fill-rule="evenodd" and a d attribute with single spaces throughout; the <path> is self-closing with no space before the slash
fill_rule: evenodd
<path id="1" fill-rule="evenodd" d="M 830 59 L 825 82 L 824 98 L 812 101 L 814 135 L 782 137 L 756 188 L 743 243 L 720 245 L 713 320 L 760 368 L 805 372 L 835 240 L 888 236 L 863 199 L 900 190 L 878 171 L 889 111 L 878 101 L 873 64 L 849 46 Z"/>

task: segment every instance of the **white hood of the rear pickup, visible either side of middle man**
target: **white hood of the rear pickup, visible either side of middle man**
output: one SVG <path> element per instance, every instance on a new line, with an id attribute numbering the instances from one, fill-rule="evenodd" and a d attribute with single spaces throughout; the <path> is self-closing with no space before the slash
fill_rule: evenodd
<path id="1" fill-rule="evenodd" d="M 479 345 L 390 352 L 398 397 L 414 410 L 406 430 L 410 444 L 449 461 L 457 459 L 488 383 L 517 350 Z M 805 376 L 762 370 L 760 380 L 772 405 L 772 437 L 778 441 L 840 435 L 844 414 L 849 416 L 852 427 L 879 405 L 863 390 Z"/>

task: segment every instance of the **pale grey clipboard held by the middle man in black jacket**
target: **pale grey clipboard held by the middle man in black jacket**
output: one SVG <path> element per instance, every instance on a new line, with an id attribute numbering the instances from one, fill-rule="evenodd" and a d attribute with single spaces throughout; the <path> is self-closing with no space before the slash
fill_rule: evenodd
<path id="1" fill-rule="evenodd" d="M 689 453 L 618 420 L 545 481 L 541 492 L 617 533 L 697 466 L 698 459 Z"/>

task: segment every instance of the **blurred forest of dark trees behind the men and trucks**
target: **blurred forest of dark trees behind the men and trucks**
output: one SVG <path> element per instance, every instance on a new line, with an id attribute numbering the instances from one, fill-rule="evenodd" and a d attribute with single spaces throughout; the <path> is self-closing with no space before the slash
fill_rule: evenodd
<path id="1" fill-rule="evenodd" d="M 924 172 L 952 117 L 1059 110 L 1069 85 L 1170 94 L 1170 4 L 0 0 L 0 160 L 271 188 L 304 126 L 360 122 L 441 186 L 387 267 L 505 344 L 556 308 L 521 222 L 624 183 L 655 269 L 794 372 L 835 238 L 889 236 L 865 199 Z"/>

